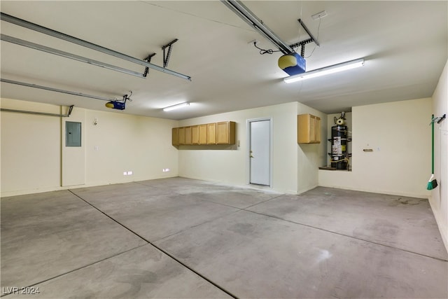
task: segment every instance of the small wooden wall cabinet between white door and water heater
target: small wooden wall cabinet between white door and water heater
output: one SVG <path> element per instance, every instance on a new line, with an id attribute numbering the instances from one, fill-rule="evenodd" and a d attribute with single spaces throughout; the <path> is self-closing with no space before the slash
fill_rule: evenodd
<path id="1" fill-rule="evenodd" d="M 321 118 L 312 114 L 300 114 L 297 116 L 297 143 L 321 143 Z"/>

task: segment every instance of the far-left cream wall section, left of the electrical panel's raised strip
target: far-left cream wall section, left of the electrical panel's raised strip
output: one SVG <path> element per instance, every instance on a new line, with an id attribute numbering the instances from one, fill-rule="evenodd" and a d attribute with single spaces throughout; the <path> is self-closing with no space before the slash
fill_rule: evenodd
<path id="1" fill-rule="evenodd" d="M 60 107 L 1 99 L 1 108 L 59 114 Z M 1 195 L 61 186 L 61 120 L 4 112 L 1 118 Z M 20 193 L 20 192 L 19 192 Z"/>

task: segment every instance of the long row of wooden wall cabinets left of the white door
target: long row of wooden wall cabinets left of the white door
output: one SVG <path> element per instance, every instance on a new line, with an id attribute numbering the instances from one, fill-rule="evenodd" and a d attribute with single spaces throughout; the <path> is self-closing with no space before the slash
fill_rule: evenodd
<path id="1" fill-rule="evenodd" d="M 190 127 L 174 127 L 173 146 L 235 144 L 235 122 L 207 123 Z"/>

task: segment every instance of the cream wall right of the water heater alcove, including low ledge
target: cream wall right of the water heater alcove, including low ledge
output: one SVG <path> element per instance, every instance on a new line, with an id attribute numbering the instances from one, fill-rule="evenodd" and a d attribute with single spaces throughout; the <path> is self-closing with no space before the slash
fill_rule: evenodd
<path id="1" fill-rule="evenodd" d="M 426 98 L 353 107 L 353 170 L 320 170 L 319 185 L 428 198 L 431 106 Z"/>

